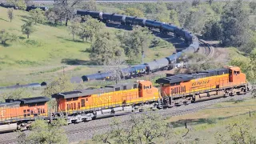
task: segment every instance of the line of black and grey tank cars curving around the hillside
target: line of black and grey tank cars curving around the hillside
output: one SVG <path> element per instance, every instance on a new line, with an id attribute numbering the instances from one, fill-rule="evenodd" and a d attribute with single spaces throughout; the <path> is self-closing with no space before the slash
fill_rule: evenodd
<path id="1" fill-rule="evenodd" d="M 185 42 L 187 42 L 190 46 L 186 48 L 186 50 L 182 50 L 177 54 L 172 54 L 169 57 L 161 58 L 154 60 L 153 62 L 147 62 L 145 64 L 140 64 L 136 66 L 131 66 L 129 68 L 122 69 L 119 74 L 121 78 L 131 78 L 140 76 L 143 74 L 150 74 L 152 72 L 158 70 L 170 70 L 174 67 L 175 61 L 178 58 L 181 58 L 182 55 L 188 53 L 194 53 L 198 50 L 199 42 L 198 38 L 190 33 L 188 30 L 184 30 L 178 26 L 174 26 L 172 24 L 168 24 L 165 22 L 159 22 L 156 20 L 150 20 L 146 18 L 137 18 L 133 16 L 126 16 L 121 14 L 109 14 L 109 13 L 102 13 L 98 11 L 87 11 L 87 10 L 76 10 L 76 14 L 78 15 L 89 15 L 92 18 L 97 18 L 102 22 L 119 22 L 122 25 L 129 25 L 129 26 L 146 26 L 150 29 L 158 29 L 162 33 L 174 33 L 175 36 L 184 38 Z M 112 72 L 106 73 L 98 73 L 98 74 L 89 74 L 83 75 L 82 80 L 84 82 L 91 81 L 91 80 L 107 80 L 111 79 L 115 74 Z"/>

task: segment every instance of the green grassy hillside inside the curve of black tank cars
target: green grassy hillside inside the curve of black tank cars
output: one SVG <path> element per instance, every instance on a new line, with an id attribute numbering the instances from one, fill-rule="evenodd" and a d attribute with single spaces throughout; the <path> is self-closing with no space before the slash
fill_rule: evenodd
<path id="1" fill-rule="evenodd" d="M 90 42 L 82 42 L 78 38 L 74 42 L 66 26 L 48 26 L 37 24 L 36 31 L 26 38 L 21 26 L 29 14 L 22 10 L 14 10 L 14 19 L 9 21 L 7 9 L 0 7 L 0 29 L 16 34 L 16 42 L 0 45 L 0 86 L 16 83 L 50 81 L 65 73 L 70 76 L 82 76 L 103 70 L 102 66 L 90 65 Z M 110 30 L 116 30 L 111 28 Z M 172 44 L 146 50 L 145 62 L 155 58 L 163 58 L 174 52 Z"/>

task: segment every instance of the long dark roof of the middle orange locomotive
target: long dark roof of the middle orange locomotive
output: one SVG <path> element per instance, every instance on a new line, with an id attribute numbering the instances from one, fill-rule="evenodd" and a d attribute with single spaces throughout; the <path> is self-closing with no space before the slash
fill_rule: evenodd
<path id="1" fill-rule="evenodd" d="M 53 94 L 52 98 L 77 98 L 80 96 L 89 96 L 92 94 L 102 94 L 108 92 L 114 92 L 118 90 L 131 90 L 138 88 L 138 82 L 130 82 L 125 84 L 110 85 L 99 89 L 86 89 L 86 90 L 74 90 L 58 94 Z"/>

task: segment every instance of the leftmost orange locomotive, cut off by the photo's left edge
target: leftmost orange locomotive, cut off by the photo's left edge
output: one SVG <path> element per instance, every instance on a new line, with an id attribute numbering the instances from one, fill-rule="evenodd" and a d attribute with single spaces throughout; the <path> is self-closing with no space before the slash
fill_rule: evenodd
<path id="1" fill-rule="evenodd" d="M 6 99 L 0 102 L 0 132 L 26 129 L 28 122 L 35 118 L 47 118 L 49 98 L 35 97 L 22 99 Z"/>

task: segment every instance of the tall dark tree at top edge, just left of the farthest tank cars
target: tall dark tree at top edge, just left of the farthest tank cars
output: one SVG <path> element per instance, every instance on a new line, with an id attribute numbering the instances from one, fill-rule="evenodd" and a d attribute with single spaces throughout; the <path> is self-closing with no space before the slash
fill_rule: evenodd
<path id="1" fill-rule="evenodd" d="M 56 0 L 54 1 L 54 9 L 59 10 L 59 16 L 65 18 L 65 25 L 67 26 L 68 21 L 72 18 L 74 7 L 78 6 L 82 0 Z"/>

